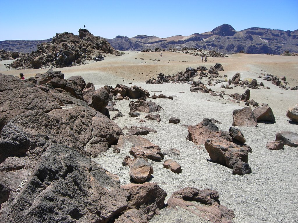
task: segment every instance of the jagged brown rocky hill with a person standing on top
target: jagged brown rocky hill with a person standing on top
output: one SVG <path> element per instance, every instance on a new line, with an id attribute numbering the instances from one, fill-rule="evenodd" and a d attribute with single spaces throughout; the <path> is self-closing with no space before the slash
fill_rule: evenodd
<path id="1" fill-rule="evenodd" d="M 8 67 L 14 69 L 69 67 L 82 64 L 86 60 L 103 60 L 103 53 L 120 55 L 105 39 L 95 37 L 87 29 L 79 29 L 78 36 L 69 32 L 56 34 L 51 42 L 38 45 L 37 51 L 20 54 Z"/>

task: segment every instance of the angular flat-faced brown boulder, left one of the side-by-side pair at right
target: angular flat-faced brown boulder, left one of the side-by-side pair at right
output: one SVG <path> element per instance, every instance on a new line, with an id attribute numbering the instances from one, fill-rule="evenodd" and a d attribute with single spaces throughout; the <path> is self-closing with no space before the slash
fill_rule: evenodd
<path id="1" fill-rule="evenodd" d="M 251 107 L 233 111 L 233 126 L 254 126 L 257 127 L 257 119 L 252 113 Z"/>

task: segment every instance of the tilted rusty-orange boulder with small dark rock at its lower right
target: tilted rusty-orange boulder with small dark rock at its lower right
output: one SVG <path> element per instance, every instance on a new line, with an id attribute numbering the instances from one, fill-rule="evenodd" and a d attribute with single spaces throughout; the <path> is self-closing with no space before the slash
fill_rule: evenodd
<path id="1" fill-rule="evenodd" d="M 207 139 L 205 148 L 214 162 L 229 168 L 233 168 L 239 160 L 245 163 L 248 161 L 248 152 L 233 142 L 222 139 Z"/>

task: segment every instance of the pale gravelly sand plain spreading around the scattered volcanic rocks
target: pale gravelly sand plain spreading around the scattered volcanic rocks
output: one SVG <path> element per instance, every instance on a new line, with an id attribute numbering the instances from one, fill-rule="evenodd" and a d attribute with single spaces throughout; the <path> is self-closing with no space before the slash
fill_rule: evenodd
<path id="1" fill-rule="evenodd" d="M 104 61 L 54 70 L 61 70 L 66 79 L 73 75 L 80 75 L 86 82 L 93 82 L 96 88 L 106 84 L 112 87 L 116 84 L 137 85 L 147 89 L 150 95 L 162 93 L 167 96 L 177 96 L 174 100 L 162 98 L 152 100 L 163 108 L 159 112 L 162 119 L 160 123 L 156 120 L 139 122 L 145 117 L 145 113 L 141 113 L 138 118 L 128 116 L 130 100 L 116 101 L 115 106 L 125 115 L 115 120 L 120 128 L 136 125 L 156 129 L 157 133 L 150 133 L 144 137 L 159 145 L 162 151 L 170 148 L 180 150 L 180 156 L 164 157 L 164 159 L 174 159 L 181 165 L 180 174 L 164 169 L 163 161 L 149 160 L 154 169 L 150 182 L 158 183 L 167 192 L 165 202 L 174 191 L 186 186 L 199 189 L 209 188 L 218 191 L 221 204 L 235 212 L 233 222 L 298 222 L 298 148 L 285 146 L 284 150 L 266 149 L 266 143 L 275 140 L 277 132 L 298 133 L 298 125 L 289 122 L 286 116 L 288 107 L 298 103 L 298 91 L 280 89 L 270 81 L 257 78 L 261 73 L 270 73 L 277 77 L 285 76 L 289 82 L 288 86 L 297 86 L 298 56 L 234 54 L 226 58 L 208 58 L 207 63 L 201 63 L 200 57 L 181 52 L 163 52 L 162 54 L 163 57 L 160 58 L 159 52 L 125 52 L 123 56 L 106 55 Z M 157 61 L 154 61 L 155 59 Z M 22 72 L 25 78 L 28 78 L 36 73 L 46 72 L 46 70 L 7 70 L 4 63 L 7 61 L 0 61 L 0 72 L 7 75 L 18 76 Z M 222 99 L 206 93 L 192 93 L 189 91 L 189 84 L 146 84 L 144 82 L 161 72 L 165 75 L 173 75 L 184 71 L 186 67 L 196 68 L 204 65 L 209 68 L 215 63 L 223 65 L 224 71 L 219 73 L 222 76 L 226 74 L 227 79 L 239 72 L 242 80 L 256 78 L 258 83 L 262 81 L 265 86 L 270 87 L 270 89 L 250 89 L 251 99 L 271 106 L 276 123 L 258 123 L 257 128 L 238 127 L 243 132 L 247 145 L 252 147 L 253 152 L 249 154 L 248 160 L 252 168 L 251 174 L 233 175 L 232 169 L 208 161 L 209 155 L 204 145 L 194 145 L 186 139 L 188 131 L 185 125 L 195 125 L 204 118 L 217 119 L 222 123 L 217 124 L 219 129 L 227 131 L 232 125 L 232 111 L 244 107 L 243 102 L 233 103 L 228 100 L 229 96 L 224 96 Z M 208 83 L 208 79 L 204 81 Z M 129 84 L 130 82 L 132 84 Z M 211 88 L 221 91 L 221 85 L 222 83 L 216 84 Z M 245 89 L 238 86 L 233 89 L 224 89 L 224 91 L 228 94 L 234 92 L 242 94 Z M 111 117 L 116 113 L 110 112 Z M 170 124 L 168 121 L 170 117 L 178 117 L 181 123 Z M 130 183 L 129 168 L 122 167 L 122 160 L 127 155 L 129 155 L 129 147 L 118 154 L 114 154 L 113 149 L 110 149 L 94 158 L 94 161 L 109 172 L 117 174 L 120 184 L 123 185 Z M 177 210 L 164 208 L 161 214 L 155 216 L 150 222 L 210 221 L 198 218 L 193 213 L 180 208 Z"/>

